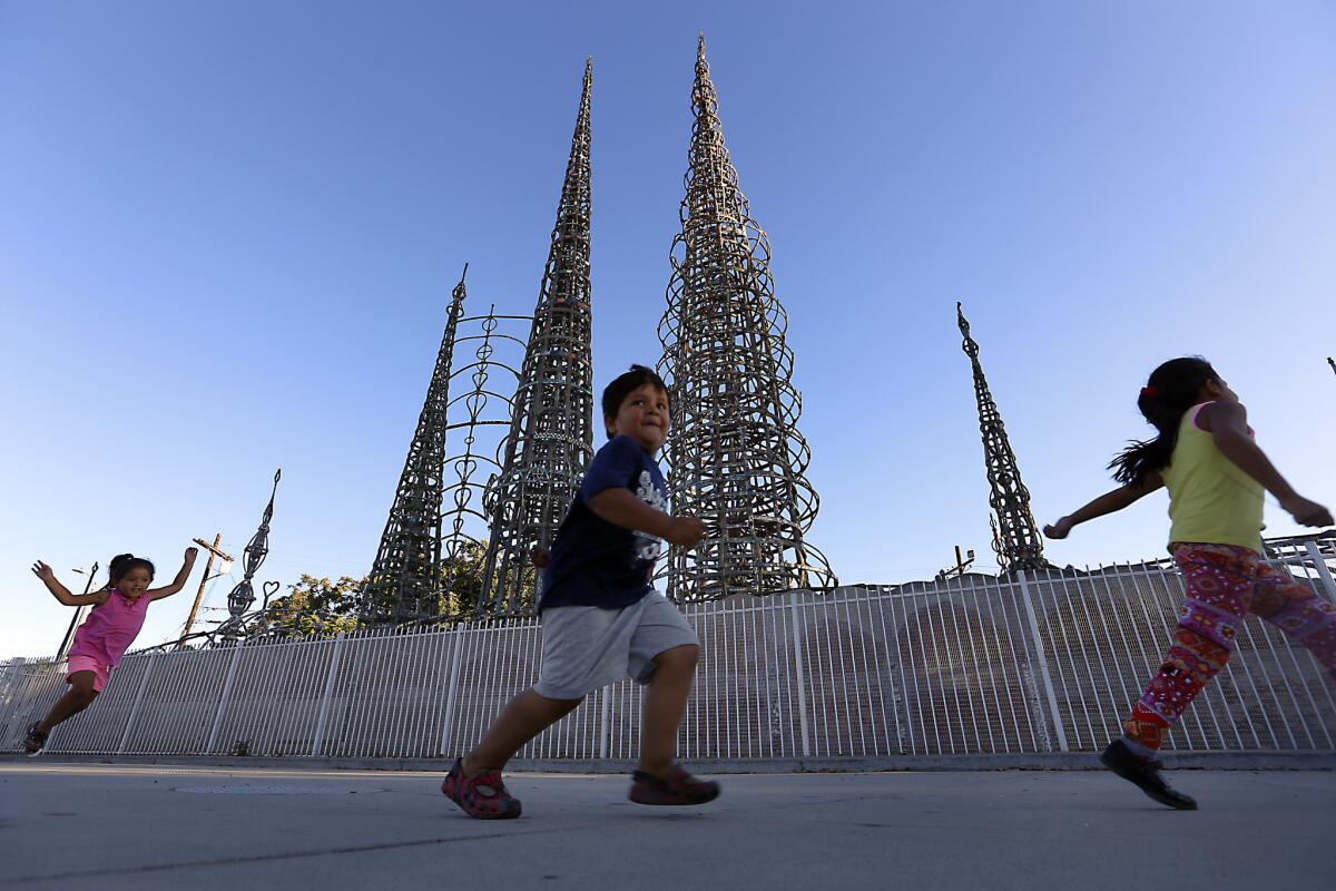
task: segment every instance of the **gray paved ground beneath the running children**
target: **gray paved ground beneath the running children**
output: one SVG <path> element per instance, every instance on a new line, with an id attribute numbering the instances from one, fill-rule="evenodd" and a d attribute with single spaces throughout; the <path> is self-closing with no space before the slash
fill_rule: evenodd
<path id="1" fill-rule="evenodd" d="M 440 775 L 0 763 L 0 888 L 1332 888 L 1336 772 L 735 775 L 700 808 L 518 773 L 518 820 Z"/>

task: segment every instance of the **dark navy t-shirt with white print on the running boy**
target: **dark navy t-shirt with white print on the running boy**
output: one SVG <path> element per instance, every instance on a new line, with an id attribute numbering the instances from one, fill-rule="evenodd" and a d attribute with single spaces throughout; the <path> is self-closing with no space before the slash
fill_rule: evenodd
<path id="1" fill-rule="evenodd" d="M 589 509 L 592 497 L 613 488 L 631 489 L 651 508 L 667 513 L 664 477 L 639 442 L 615 437 L 599 449 L 552 544 L 540 612 L 552 606 L 620 609 L 653 589 L 649 568 L 659 557 L 660 540 L 608 522 Z"/>

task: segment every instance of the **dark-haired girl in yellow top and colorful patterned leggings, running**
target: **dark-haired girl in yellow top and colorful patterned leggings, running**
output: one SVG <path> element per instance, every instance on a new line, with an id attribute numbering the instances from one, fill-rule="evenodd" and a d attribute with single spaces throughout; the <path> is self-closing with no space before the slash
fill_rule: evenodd
<path id="1" fill-rule="evenodd" d="M 1181 810 L 1197 803 L 1158 775 L 1156 752 L 1188 704 L 1229 659 L 1249 612 L 1303 644 L 1336 677 L 1336 606 L 1261 556 L 1263 490 L 1305 526 L 1332 525 L 1331 512 L 1303 498 L 1253 442 L 1238 397 L 1198 357 L 1172 359 L 1150 374 L 1137 407 L 1158 430 L 1134 442 L 1109 469 L 1124 484 L 1043 532 L 1066 538 L 1071 526 L 1121 510 L 1161 486 L 1169 489 L 1169 552 L 1186 596 L 1174 643 L 1122 737 L 1100 760 L 1146 795 Z"/>

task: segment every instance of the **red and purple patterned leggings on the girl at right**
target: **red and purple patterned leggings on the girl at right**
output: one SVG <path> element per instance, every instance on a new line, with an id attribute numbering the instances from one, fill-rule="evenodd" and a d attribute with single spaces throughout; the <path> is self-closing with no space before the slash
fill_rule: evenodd
<path id="1" fill-rule="evenodd" d="M 1122 725 L 1130 739 L 1152 749 L 1164 744 L 1188 704 L 1225 667 L 1248 613 L 1307 647 L 1336 679 L 1336 606 L 1246 548 L 1176 542 L 1170 550 L 1186 598 L 1160 673 Z"/>

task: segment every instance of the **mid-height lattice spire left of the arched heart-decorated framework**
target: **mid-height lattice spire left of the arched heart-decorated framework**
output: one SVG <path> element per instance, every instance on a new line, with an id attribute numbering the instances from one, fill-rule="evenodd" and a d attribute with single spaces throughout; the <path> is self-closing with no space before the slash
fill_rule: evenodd
<path id="1" fill-rule="evenodd" d="M 469 271 L 464 266 L 464 274 Z M 437 586 L 441 577 L 441 493 L 445 476 L 445 430 L 449 407 L 450 363 L 454 335 L 464 315 L 466 297 L 464 275 L 454 286 L 441 349 L 426 389 L 426 402 L 418 415 L 413 443 L 409 446 L 403 473 L 390 517 L 381 534 L 375 562 L 362 589 L 362 612 L 366 621 L 405 622 L 426 618 L 437 612 Z"/>

